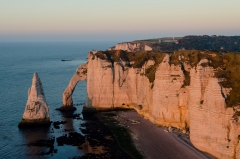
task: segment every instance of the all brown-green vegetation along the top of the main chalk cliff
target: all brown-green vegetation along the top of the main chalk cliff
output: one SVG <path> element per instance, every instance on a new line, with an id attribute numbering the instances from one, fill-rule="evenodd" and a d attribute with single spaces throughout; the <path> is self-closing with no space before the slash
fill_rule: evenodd
<path id="1" fill-rule="evenodd" d="M 157 51 L 138 51 L 126 52 L 122 50 L 116 51 L 99 51 L 96 56 L 101 59 L 118 62 L 121 60 L 129 61 L 128 67 L 142 68 L 148 60 L 154 60 L 155 64 L 145 71 L 145 76 L 153 83 L 155 80 L 156 69 L 162 62 L 166 53 Z M 215 77 L 223 79 L 220 85 L 225 88 L 232 88 L 230 95 L 227 97 L 226 103 L 228 107 L 232 107 L 240 103 L 240 54 L 239 53 L 219 53 L 214 51 L 201 50 L 183 50 L 175 51 L 170 54 L 170 64 L 181 65 L 186 63 L 192 68 L 196 67 L 202 59 L 208 59 L 207 63 L 202 63 L 203 67 L 213 67 L 215 69 Z M 181 61 L 179 61 L 181 56 Z M 189 70 L 183 68 L 185 80 L 183 86 L 190 85 Z"/>

